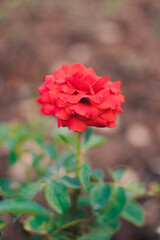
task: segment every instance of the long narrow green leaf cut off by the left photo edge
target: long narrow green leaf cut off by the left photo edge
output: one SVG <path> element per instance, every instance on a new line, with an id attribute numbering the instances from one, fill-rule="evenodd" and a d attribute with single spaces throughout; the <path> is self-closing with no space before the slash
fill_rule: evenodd
<path id="1" fill-rule="evenodd" d="M 48 216 L 50 212 L 40 204 L 26 199 L 7 199 L 0 202 L 0 213 L 29 213 Z"/>

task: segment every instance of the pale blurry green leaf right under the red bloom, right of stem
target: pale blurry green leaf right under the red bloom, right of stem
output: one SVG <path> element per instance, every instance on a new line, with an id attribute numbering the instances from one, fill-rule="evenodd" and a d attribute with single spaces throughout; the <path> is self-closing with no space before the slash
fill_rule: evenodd
<path id="1" fill-rule="evenodd" d="M 106 138 L 104 138 L 104 137 L 102 137 L 100 135 L 92 134 L 92 136 L 90 137 L 88 142 L 84 144 L 84 147 L 85 147 L 86 150 L 89 150 L 91 148 L 95 148 L 95 147 L 101 146 L 105 142 L 106 142 Z"/>

